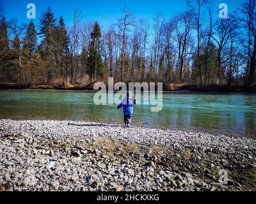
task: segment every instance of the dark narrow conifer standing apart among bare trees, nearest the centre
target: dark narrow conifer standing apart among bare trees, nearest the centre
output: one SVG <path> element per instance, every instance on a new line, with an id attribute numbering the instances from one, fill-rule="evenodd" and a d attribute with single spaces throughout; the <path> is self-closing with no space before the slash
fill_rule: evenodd
<path id="1" fill-rule="evenodd" d="M 89 50 L 89 57 L 88 57 L 88 68 L 89 73 L 92 77 L 95 77 L 95 80 L 97 80 L 97 77 L 102 77 L 103 75 L 103 69 L 104 65 L 102 62 L 102 57 L 100 53 L 100 26 L 98 22 L 95 22 L 93 25 L 93 31 L 91 33 L 91 44 L 90 44 L 90 50 Z"/>

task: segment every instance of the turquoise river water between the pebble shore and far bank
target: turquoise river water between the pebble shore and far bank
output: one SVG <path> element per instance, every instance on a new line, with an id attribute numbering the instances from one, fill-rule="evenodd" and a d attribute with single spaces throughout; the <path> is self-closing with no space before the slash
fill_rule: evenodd
<path id="1" fill-rule="evenodd" d="M 1 119 L 72 119 L 122 124 L 115 105 L 95 105 L 93 92 L 0 91 Z M 163 94 L 163 110 L 134 106 L 132 122 L 156 128 L 189 128 L 256 138 L 256 95 Z"/>

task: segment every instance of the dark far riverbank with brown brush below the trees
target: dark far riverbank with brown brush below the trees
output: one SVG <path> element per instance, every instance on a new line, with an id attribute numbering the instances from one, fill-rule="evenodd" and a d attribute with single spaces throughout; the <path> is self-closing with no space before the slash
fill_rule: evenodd
<path id="1" fill-rule="evenodd" d="M 13 90 L 62 90 L 62 91 L 93 91 L 93 84 L 88 85 L 22 85 L 15 83 L 0 83 L 1 89 Z M 157 89 L 157 88 L 156 88 Z M 256 93 L 256 86 L 244 87 L 243 85 L 231 86 L 226 85 L 211 85 L 206 87 L 193 86 L 193 85 L 170 85 L 163 84 L 163 91 L 165 93 Z"/>

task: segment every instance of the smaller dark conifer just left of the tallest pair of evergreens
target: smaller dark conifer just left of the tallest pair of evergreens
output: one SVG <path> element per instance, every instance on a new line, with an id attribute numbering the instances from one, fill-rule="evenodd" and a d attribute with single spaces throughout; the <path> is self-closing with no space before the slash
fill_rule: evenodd
<path id="1" fill-rule="evenodd" d="M 26 30 L 25 38 L 24 38 L 24 48 L 29 50 L 29 54 L 35 53 L 36 51 L 36 29 L 35 25 L 31 21 Z"/>

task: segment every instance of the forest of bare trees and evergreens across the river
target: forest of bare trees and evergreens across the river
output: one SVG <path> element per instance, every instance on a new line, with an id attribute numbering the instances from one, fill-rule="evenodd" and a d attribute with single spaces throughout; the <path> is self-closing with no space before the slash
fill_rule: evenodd
<path id="1" fill-rule="evenodd" d="M 40 23 L 6 19 L 0 8 L 0 82 L 31 87 L 89 87 L 95 82 L 163 82 L 195 87 L 255 87 L 256 0 L 219 18 L 211 0 L 187 1 L 187 10 L 154 23 L 129 8 L 108 29 L 72 25 L 51 7 Z"/>

